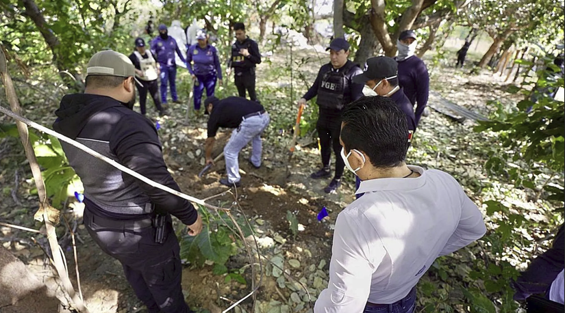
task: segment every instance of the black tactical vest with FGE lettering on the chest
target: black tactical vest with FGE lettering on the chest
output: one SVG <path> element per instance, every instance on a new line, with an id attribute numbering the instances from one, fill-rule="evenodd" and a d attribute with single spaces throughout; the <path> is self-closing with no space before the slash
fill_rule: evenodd
<path id="1" fill-rule="evenodd" d="M 351 102 L 351 95 L 345 95 L 347 88 L 351 87 L 346 75 L 354 66 L 357 65 L 349 61 L 337 70 L 330 65 L 330 70 L 324 74 L 318 86 L 316 104 L 319 107 L 341 110 Z"/>

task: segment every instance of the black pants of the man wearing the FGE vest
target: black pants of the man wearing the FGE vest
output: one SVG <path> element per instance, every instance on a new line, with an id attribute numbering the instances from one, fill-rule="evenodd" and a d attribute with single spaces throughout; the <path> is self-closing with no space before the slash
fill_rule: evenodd
<path id="1" fill-rule="evenodd" d="M 325 110 L 321 109 L 318 122 L 316 123 L 316 130 L 318 131 L 318 137 L 320 137 L 322 165 L 324 167 L 329 167 L 331 159 L 331 149 L 333 148 L 334 154 L 336 154 L 336 175 L 334 177 L 340 179 L 343 175 L 343 169 L 345 167 L 345 163 L 341 158 L 340 112 L 325 112 Z"/>

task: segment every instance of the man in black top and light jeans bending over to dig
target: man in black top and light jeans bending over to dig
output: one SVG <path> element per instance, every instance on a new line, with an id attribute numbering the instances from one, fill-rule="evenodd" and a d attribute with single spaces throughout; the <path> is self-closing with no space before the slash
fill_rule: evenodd
<path id="1" fill-rule="evenodd" d="M 227 178 L 220 183 L 226 186 L 240 186 L 239 152 L 252 141 L 253 150 L 249 162 L 253 167 L 261 167 L 262 141 L 261 134 L 265 131 L 271 118 L 264 107 L 255 101 L 239 97 L 227 97 L 223 100 L 210 96 L 204 101 L 206 111 L 210 114 L 208 120 L 208 139 L 206 139 L 206 164 L 213 163 L 212 148 L 216 141 L 218 128 L 235 128 L 231 138 L 224 147 L 225 170 Z"/>

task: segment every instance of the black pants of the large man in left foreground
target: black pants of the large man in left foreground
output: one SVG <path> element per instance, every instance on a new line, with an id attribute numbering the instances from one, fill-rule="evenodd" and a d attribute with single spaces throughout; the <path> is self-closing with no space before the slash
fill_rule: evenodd
<path id="1" fill-rule="evenodd" d="M 123 228 L 117 228 L 116 223 L 123 223 Z M 108 225 L 108 220 L 92 215 L 88 208 L 84 210 L 88 233 L 102 251 L 121 262 L 127 281 L 150 313 L 188 313 L 181 289 L 179 242 L 171 217 L 162 244 L 155 243 L 151 226 L 129 230 L 125 223 L 112 221 Z"/>

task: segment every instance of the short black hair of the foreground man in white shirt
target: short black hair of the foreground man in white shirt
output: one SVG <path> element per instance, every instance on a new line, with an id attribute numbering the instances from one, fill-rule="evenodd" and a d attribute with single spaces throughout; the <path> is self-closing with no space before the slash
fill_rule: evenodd
<path id="1" fill-rule="evenodd" d="M 340 137 L 346 154 L 360 150 L 379 168 L 397 167 L 406 159 L 406 115 L 391 98 L 360 98 L 345 106 L 342 122 Z"/>

